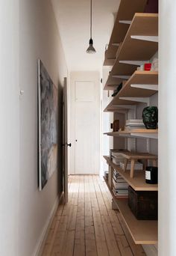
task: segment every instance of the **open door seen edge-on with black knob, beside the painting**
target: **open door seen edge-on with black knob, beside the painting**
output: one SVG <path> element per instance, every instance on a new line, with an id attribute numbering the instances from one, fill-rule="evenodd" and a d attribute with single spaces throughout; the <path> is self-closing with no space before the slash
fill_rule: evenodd
<path id="1" fill-rule="evenodd" d="M 65 77 L 63 82 L 63 191 L 66 203 L 68 202 L 68 147 L 71 146 L 67 141 L 67 118 L 67 84 Z"/>

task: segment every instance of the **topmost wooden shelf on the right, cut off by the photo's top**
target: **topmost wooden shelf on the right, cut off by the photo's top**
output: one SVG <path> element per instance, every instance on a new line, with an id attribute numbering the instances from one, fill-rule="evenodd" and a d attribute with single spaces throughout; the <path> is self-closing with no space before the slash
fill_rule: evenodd
<path id="1" fill-rule="evenodd" d="M 118 43 L 121 43 L 124 40 L 125 34 L 128 31 L 129 24 L 125 24 L 125 22 L 121 21 L 131 21 L 133 19 L 134 13 L 143 12 L 146 2 L 146 0 L 133 0 L 133 4 L 129 8 L 131 0 L 121 1 L 116 16 L 116 22 L 113 26 L 113 32 L 110 37 L 110 43 L 107 51 L 105 52 L 104 66 L 111 66 L 114 64 L 116 61 Z"/>

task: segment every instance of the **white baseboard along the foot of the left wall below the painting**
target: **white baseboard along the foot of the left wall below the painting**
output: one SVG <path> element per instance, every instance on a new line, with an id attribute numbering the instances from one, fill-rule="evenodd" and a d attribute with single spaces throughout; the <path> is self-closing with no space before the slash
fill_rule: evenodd
<path id="1" fill-rule="evenodd" d="M 57 207 L 58 207 L 58 205 L 60 204 L 60 202 L 62 200 L 63 200 L 63 192 L 61 193 L 60 196 L 57 196 L 57 198 L 54 202 L 54 205 L 51 209 L 51 213 L 49 214 L 48 219 L 45 222 L 45 226 L 43 227 L 42 234 L 40 235 L 40 238 L 37 241 L 37 246 L 34 249 L 34 253 L 32 254 L 32 256 L 41 256 L 42 255 L 43 248 L 44 248 L 44 245 L 45 245 L 45 240 L 48 237 L 48 231 L 51 227 L 51 223 L 54 219 L 54 215 L 57 211 Z"/>

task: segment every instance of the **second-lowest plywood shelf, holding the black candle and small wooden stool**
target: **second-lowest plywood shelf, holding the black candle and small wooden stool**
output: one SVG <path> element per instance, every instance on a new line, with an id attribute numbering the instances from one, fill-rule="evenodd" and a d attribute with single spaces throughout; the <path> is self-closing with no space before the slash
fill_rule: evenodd
<path id="1" fill-rule="evenodd" d="M 148 184 L 145 183 L 145 171 L 135 171 L 135 176 L 133 178 L 130 177 L 130 170 L 123 171 L 122 168 L 119 168 L 118 165 L 114 164 L 112 160 L 110 160 L 110 156 L 104 156 L 107 164 L 112 166 L 119 174 L 126 180 L 126 182 L 136 191 L 157 191 L 157 184 Z"/>

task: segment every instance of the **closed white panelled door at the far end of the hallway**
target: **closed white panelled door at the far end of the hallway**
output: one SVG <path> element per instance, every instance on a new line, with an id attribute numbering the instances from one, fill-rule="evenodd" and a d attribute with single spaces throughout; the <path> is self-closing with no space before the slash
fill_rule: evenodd
<path id="1" fill-rule="evenodd" d="M 75 174 L 95 174 L 95 82 L 75 82 Z"/>

